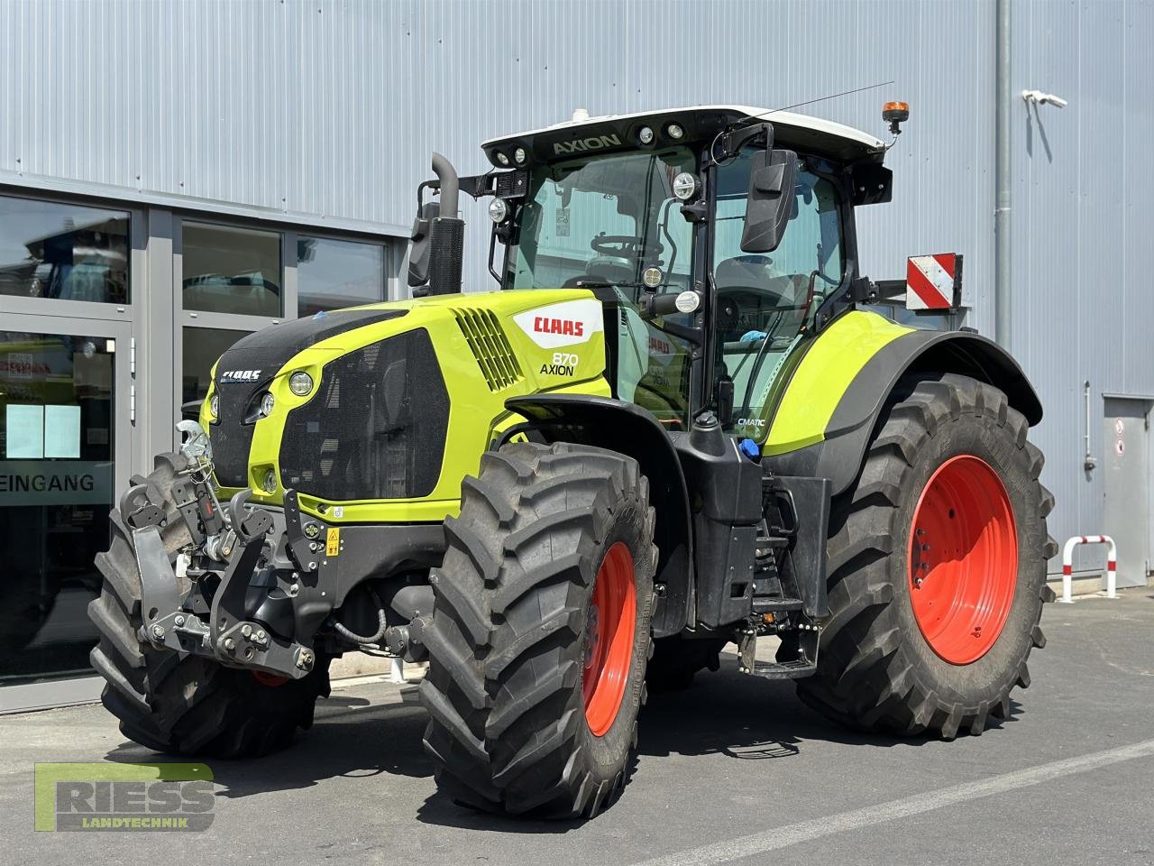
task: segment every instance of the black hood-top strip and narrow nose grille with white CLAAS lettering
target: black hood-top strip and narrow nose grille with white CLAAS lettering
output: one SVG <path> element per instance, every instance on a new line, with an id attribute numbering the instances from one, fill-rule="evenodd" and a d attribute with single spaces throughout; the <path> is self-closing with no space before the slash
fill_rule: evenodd
<path id="1" fill-rule="evenodd" d="M 342 331 L 404 314 L 403 309 L 338 309 L 262 328 L 234 343 L 216 368 L 219 420 L 209 425 L 209 438 L 217 480 L 225 487 L 248 486 L 248 451 L 256 421 L 246 424 L 245 418 L 253 416 L 261 394 L 290 358 Z M 255 371 L 257 379 L 220 381 L 225 373 L 237 371 Z"/>

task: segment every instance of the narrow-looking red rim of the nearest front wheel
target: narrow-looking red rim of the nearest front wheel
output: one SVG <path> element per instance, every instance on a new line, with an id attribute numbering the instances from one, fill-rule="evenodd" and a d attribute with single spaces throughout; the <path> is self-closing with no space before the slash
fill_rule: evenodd
<path id="1" fill-rule="evenodd" d="M 623 542 L 616 542 L 597 572 L 585 618 L 582 697 L 585 700 L 585 722 L 594 737 L 604 737 L 613 727 L 621 709 L 634 660 L 636 625 L 634 555 Z"/>

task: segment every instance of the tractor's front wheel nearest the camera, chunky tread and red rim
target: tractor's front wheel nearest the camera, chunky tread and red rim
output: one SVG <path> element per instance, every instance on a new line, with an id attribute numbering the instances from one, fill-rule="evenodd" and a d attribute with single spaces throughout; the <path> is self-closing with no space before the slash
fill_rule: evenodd
<path id="1" fill-rule="evenodd" d="M 443 793 L 548 818 L 592 818 L 620 794 L 645 697 L 653 520 L 630 457 L 563 442 L 484 455 L 445 522 L 422 637 Z"/>

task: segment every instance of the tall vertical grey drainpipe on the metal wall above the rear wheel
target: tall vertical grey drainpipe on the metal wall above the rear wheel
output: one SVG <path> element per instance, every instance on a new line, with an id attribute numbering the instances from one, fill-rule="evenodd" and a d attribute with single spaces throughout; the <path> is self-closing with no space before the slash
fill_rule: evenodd
<path id="1" fill-rule="evenodd" d="M 1010 0 L 997 0 L 994 94 L 994 338 L 1010 349 Z"/>

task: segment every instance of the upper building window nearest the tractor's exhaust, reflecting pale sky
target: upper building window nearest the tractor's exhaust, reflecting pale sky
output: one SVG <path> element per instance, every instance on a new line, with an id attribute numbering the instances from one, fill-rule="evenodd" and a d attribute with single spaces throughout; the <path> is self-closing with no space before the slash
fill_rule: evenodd
<path id="1" fill-rule="evenodd" d="M 301 236 L 297 240 L 297 314 L 384 300 L 384 256 L 380 244 Z"/>

